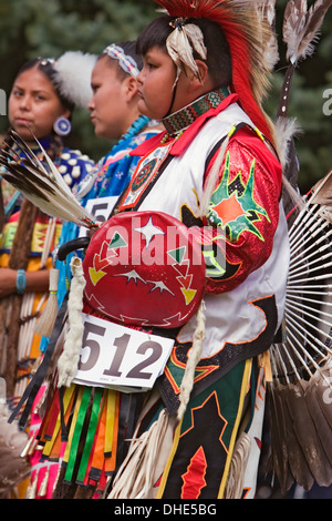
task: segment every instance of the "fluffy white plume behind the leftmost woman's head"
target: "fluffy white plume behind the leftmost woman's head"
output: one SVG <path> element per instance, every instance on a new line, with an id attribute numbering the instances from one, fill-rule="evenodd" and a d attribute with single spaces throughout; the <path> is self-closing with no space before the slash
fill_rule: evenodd
<path id="1" fill-rule="evenodd" d="M 65 52 L 55 63 L 55 83 L 60 93 L 74 105 L 86 108 L 92 96 L 91 74 L 96 55 L 81 51 Z"/>

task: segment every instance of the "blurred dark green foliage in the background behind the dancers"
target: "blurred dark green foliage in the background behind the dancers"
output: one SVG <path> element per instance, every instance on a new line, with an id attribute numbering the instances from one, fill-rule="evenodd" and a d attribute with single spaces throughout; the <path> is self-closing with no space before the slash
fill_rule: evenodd
<path id="1" fill-rule="evenodd" d="M 287 68 L 281 35 L 286 4 L 287 0 L 277 0 L 280 62 L 266 102 L 272 119 Z M 133 40 L 155 11 L 152 0 L 0 0 L 0 89 L 9 95 L 18 69 L 30 58 L 59 58 L 69 50 L 98 54 L 108 43 Z M 289 115 L 297 118 L 303 130 L 297 139 L 297 151 L 301 163 L 299 183 L 305 192 L 332 167 L 332 8 L 313 57 L 297 70 Z M 7 118 L 1 115 L 0 133 L 7 126 Z M 84 110 L 75 112 L 69 144 L 95 161 L 111 147 L 105 140 L 95 137 Z"/>

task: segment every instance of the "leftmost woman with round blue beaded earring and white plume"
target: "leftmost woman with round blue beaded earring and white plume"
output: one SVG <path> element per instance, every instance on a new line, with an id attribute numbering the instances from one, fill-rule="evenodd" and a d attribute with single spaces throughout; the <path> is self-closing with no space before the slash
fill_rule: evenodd
<path id="1" fill-rule="evenodd" d="M 66 52 L 58 61 L 30 60 L 19 70 L 9 96 L 10 131 L 40 160 L 42 146 L 72 190 L 94 167 L 86 155 L 64 144 L 74 108 L 86 108 L 90 99 L 94 62 L 95 57 L 81 52 Z M 1 146 L 7 150 L 10 144 L 8 134 Z M 24 157 L 19 146 L 14 145 L 14 153 Z M 61 223 L 1 180 L 1 170 L 0 183 L 4 216 L 0 236 L 0 374 L 8 399 L 15 402 L 39 358 L 41 337 L 34 328 L 48 302 L 51 252 Z"/>

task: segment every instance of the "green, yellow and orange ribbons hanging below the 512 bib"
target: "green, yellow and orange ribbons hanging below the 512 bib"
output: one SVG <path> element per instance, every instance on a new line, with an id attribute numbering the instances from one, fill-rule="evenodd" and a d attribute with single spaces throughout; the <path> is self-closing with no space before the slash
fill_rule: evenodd
<path id="1" fill-rule="evenodd" d="M 59 461 L 63 454 L 64 483 L 92 487 L 102 493 L 116 466 L 120 416 L 121 398 L 115 390 L 72 384 L 62 397 L 56 389 L 37 436 L 43 446 L 41 460 Z M 124 442 L 122 437 L 121 445 Z"/>

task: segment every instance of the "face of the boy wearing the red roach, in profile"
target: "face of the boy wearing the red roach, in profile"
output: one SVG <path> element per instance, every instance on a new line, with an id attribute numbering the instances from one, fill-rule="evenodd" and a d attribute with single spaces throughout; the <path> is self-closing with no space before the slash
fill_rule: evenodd
<path id="1" fill-rule="evenodd" d="M 143 57 L 143 69 L 138 74 L 138 110 L 155 120 L 165 118 L 172 106 L 172 112 L 178 100 L 173 100 L 173 88 L 176 79 L 176 68 L 169 55 L 160 48 L 152 48 Z M 184 74 L 181 74 L 183 76 Z M 179 89 L 177 89 L 178 91 Z M 176 98 L 178 99 L 178 92 Z"/>

